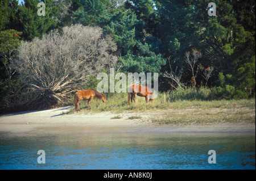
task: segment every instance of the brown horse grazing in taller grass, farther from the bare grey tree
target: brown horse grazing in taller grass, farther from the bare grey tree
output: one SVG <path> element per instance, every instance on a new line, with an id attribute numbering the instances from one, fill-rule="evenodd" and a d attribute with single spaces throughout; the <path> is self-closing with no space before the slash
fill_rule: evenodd
<path id="1" fill-rule="evenodd" d="M 154 97 L 152 91 L 147 86 L 139 86 L 137 84 L 131 85 L 128 89 L 128 103 L 135 102 L 136 96 L 141 96 L 146 98 L 146 103 L 148 102 L 148 98 L 150 98 L 150 102 L 154 102 Z"/>

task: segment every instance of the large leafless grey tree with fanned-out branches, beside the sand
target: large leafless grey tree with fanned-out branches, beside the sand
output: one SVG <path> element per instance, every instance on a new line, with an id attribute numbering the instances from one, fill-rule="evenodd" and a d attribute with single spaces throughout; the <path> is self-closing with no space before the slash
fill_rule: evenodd
<path id="1" fill-rule="evenodd" d="M 115 64 L 116 49 L 100 27 L 80 24 L 23 41 L 12 65 L 23 83 L 16 92 L 19 104 L 30 110 L 64 104 L 90 75 Z"/>

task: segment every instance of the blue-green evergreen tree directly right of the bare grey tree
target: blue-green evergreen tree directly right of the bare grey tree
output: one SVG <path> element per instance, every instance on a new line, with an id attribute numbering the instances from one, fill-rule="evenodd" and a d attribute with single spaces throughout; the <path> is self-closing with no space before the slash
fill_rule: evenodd
<path id="1" fill-rule="evenodd" d="M 123 71 L 159 72 L 166 60 L 161 54 L 152 50 L 152 45 L 140 39 L 136 34 L 139 20 L 134 12 L 117 11 L 104 27 L 117 42 L 119 49 L 119 64 Z"/>

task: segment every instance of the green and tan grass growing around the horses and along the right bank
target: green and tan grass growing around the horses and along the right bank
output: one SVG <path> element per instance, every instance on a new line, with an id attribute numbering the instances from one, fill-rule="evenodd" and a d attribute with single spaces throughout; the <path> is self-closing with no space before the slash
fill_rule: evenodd
<path id="1" fill-rule="evenodd" d="M 209 100 L 207 94 L 194 95 L 189 92 L 187 95 L 177 95 L 177 92 L 168 92 L 159 93 L 158 98 L 154 99 L 154 103 L 146 103 L 145 98 L 137 96 L 136 103 L 128 105 L 127 93 L 107 93 L 105 95 L 106 103 L 93 99 L 89 108 L 86 107 L 87 102 L 82 101 L 80 103 L 81 113 L 104 111 L 117 114 L 123 112 L 138 113 L 138 116 L 130 116 L 128 119 L 142 119 L 139 113 L 148 112 L 153 113 L 150 117 L 151 122 L 158 125 L 255 124 L 255 98 Z M 175 98 L 175 95 L 177 98 Z M 204 95 L 204 98 L 202 95 Z M 186 97 L 187 99 L 185 99 Z M 69 113 L 73 112 L 75 112 L 75 106 L 71 108 Z M 117 115 L 112 119 L 122 119 L 122 116 Z"/>

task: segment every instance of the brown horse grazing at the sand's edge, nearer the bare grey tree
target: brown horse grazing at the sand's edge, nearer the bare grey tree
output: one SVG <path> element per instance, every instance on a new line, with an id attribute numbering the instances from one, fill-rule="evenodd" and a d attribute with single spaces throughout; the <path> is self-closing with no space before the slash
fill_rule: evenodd
<path id="1" fill-rule="evenodd" d="M 87 90 L 77 91 L 75 94 L 75 111 L 80 111 L 79 104 L 81 100 L 88 100 L 87 107 L 90 107 L 94 97 L 101 99 L 103 102 L 106 102 L 105 95 L 98 92 L 97 90 L 89 88 Z"/>

